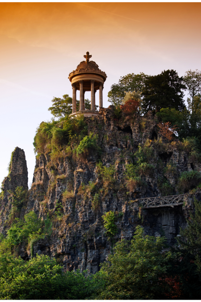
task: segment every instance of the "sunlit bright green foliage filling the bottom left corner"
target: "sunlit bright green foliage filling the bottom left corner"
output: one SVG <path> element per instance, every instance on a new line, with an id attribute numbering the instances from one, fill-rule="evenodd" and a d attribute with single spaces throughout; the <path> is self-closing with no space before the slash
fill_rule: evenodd
<path id="1" fill-rule="evenodd" d="M 28 262 L 12 256 L 1 260 L 2 300 L 80 300 L 92 291 L 89 277 L 79 272 L 64 273 L 49 256 L 37 256 Z"/>

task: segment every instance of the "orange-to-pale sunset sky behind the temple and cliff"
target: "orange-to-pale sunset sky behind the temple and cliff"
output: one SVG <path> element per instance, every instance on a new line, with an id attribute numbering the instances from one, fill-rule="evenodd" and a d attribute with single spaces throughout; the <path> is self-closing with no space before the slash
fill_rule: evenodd
<path id="1" fill-rule="evenodd" d="M 32 182 L 36 127 L 51 119 L 53 97 L 72 97 L 68 75 L 86 51 L 108 76 L 104 107 L 120 76 L 201 70 L 200 11 L 200 3 L 0 3 L 0 181 L 18 146 Z"/>

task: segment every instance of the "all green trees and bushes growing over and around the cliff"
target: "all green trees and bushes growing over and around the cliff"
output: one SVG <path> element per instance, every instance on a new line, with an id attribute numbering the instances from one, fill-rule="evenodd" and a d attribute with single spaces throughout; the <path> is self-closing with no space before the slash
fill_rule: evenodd
<path id="1" fill-rule="evenodd" d="M 187 108 L 184 105 L 184 89 L 188 89 Z M 111 86 L 109 100 L 115 105 L 115 118 L 132 116 L 135 112 L 144 114 L 152 110 L 158 117 L 158 130 L 162 138 L 146 140 L 132 154 L 124 173 L 125 194 L 143 185 L 144 176 L 159 173 L 158 186 L 163 196 L 195 193 L 201 187 L 201 173 L 196 170 L 180 173 L 171 161 L 164 165 L 157 159 L 157 151 L 166 152 L 170 147 L 185 151 L 189 158 L 201 158 L 201 73 L 188 71 L 179 77 L 174 70 L 163 71 L 157 76 L 128 74 L 118 84 Z M 90 109 L 90 101 L 85 100 Z M 100 196 L 112 188 L 116 191 L 115 165 L 103 166 L 102 152 L 97 133 L 88 131 L 83 115 L 69 117 L 72 98 L 63 95 L 53 98 L 49 111 L 58 120 L 42 122 L 36 131 L 34 148 L 37 157 L 48 152 L 52 165 L 65 156 L 74 158 L 96 155 L 97 173 L 100 184 L 81 184 L 78 194 L 83 199 L 92 196 L 92 208 L 100 207 Z M 79 106 L 79 101 L 77 101 Z M 79 107 L 77 107 L 79 109 Z M 62 122 L 62 127 L 58 123 Z M 143 130 L 146 121 L 141 121 Z M 101 129 L 101 125 L 97 129 Z M 175 136 L 176 135 L 176 136 Z M 177 139 L 178 138 L 178 139 Z M 107 137 L 104 137 L 107 140 Z M 53 171 L 54 172 L 54 171 Z M 175 188 L 166 175 L 177 176 Z M 55 178 L 65 177 L 55 175 Z M 87 272 L 64 271 L 56 259 L 37 255 L 33 246 L 39 239 L 52 233 L 53 219 L 61 219 L 62 204 L 55 207 L 54 215 L 49 213 L 42 220 L 31 210 L 24 218 L 19 213 L 26 203 L 27 190 L 16 187 L 12 194 L 12 210 L 8 219 L 6 236 L 0 237 L 0 298 L 1 299 L 199 299 L 201 294 L 201 202 L 194 200 L 195 211 L 187 218 L 187 228 L 177 237 L 178 244 L 168 246 L 165 237 L 153 237 L 137 226 L 133 239 L 121 240 L 113 246 L 113 237 L 118 232 L 115 224 L 123 213 L 109 211 L 102 216 L 105 236 L 111 240 L 112 250 L 108 260 L 101 264 L 100 271 L 93 276 Z M 63 192 L 63 201 L 74 197 L 72 188 Z M 139 221 L 140 221 L 139 212 Z M 31 259 L 18 257 L 21 244 L 30 248 Z"/>

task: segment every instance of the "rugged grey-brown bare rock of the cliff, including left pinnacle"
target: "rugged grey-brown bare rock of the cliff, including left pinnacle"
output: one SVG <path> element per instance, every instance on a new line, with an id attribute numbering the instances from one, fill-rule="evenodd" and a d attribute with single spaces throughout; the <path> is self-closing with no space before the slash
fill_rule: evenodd
<path id="1" fill-rule="evenodd" d="M 96 273 L 99 264 L 113 252 L 114 243 L 123 238 L 130 240 L 138 224 L 142 224 L 149 235 L 157 235 L 156 232 L 165 235 L 168 243 L 173 245 L 179 227 L 186 224 L 185 215 L 192 208 L 192 196 L 187 194 L 185 207 L 140 210 L 136 198 L 162 196 L 159 162 L 166 165 L 171 160 L 178 173 L 195 167 L 199 169 L 199 164 L 191 162 L 187 153 L 179 151 L 176 144 L 169 145 L 166 150 L 154 147 L 154 156 L 149 161 L 154 165 L 154 171 L 150 175 L 142 175 L 143 184 L 129 190 L 125 183 L 125 166 L 134 161 L 133 154 L 139 144 L 143 146 L 147 139 L 153 142 L 157 138 L 157 120 L 151 112 L 144 117 L 135 114 L 118 119 L 114 109 L 114 106 L 109 106 L 101 109 L 101 116 L 86 118 L 88 133 L 98 134 L 101 156 L 93 151 L 80 157 L 64 153 L 62 158 L 52 162 L 45 148 L 44 154 L 36 158 L 33 184 L 27 203 L 21 210 L 21 217 L 30 210 L 43 219 L 47 215 L 52 217 L 53 232 L 49 239 L 41 239 L 35 244 L 34 254 L 37 252 L 56 257 L 69 271 L 86 269 L 89 273 Z M 103 166 L 115 165 L 115 182 L 112 184 L 104 183 L 98 173 L 97 162 L 100 159 Z M 165 177 L 172 186 L 172 193 L 178 194 L 178 174 L 167 172 Z M 92 184 L 94 190 L 99 192 L 96 208 L 93 206 L 93 190 L 90 190 Z M 1 232 L 5 232 L 5 221 L 11 210 L 9 192 L 17 185 L 27 188 L 26 160 L 24 151 L 18 147 L 14 151 L 11 172 L 2 186 Z M 64 198 L 62 194 L 66 189 L 71 193 Z M 200 198 L 199 192 L 197 196 Z M 60 216 L 56 215 L 58 208 Z M 118 233 L 114 238 L 105 235 L 103 226 L 102 215 L 110 210 L 123 213 L 123 216 L 117 216 Z M 30 250 L 21 246 L 19 254 L 30 257 Z"/>

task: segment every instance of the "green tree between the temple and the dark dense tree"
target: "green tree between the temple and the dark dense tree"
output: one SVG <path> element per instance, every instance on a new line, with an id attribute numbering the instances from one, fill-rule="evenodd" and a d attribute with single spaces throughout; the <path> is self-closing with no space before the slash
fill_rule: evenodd
<path id="1" fill-rule="evenodd" d="M 129 73 L 126 76 L 120 77 L 118 84 L 111 85 L 111 90 L 108 92 L 108 101 L 113 105 L 118 106 L 122 104 L 125 92 L 142 92 L 147 77 L 148 76 L 143 72 L 140 72 L 140 74 L 137 75 Z"/>

